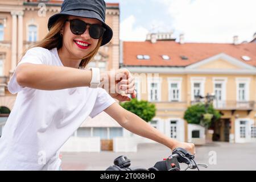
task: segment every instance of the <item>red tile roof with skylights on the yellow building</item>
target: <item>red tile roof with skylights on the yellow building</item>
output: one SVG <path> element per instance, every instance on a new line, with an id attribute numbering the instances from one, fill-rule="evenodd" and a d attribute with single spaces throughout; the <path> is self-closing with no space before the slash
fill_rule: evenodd
<path id="1" fill-rule="evenodd" d="M 150 41 L 123 42 L 123 65 L 185 67 L 219 53 L 226 53 L 256 67 L 256 43 L 238 45 L 222 43 L 180 44 L 166 40 L 158 40 L 155 44 Z M 150 60 L 138 60 L 137 55 L 149 55 Z M 168 55 L 170 60 L 163 60 L 162 55 Z M 180 56 L 186 56 L 188 60 L 182 60 Z M 241 56 L 249 56 L 251 60 L 245 61 Z"/>

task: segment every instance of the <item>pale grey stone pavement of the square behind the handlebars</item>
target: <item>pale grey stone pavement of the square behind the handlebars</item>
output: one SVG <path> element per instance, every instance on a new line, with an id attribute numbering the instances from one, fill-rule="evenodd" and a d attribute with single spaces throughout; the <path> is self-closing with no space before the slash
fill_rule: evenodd
<path id="1" fill-rule="evenodd" d="M 105 170 L 113 165 L 115 158 L 126 155 L 131 167 L 149 168 L 170 154 L 166 146 L 158 143 L 139 144 L 137 152 L 61 152 L 61 167 L 63 170 Z M 256 170 L 256 143 L 213 142 L 196 146 L 195 160 L 209 165 L 201 170 Z M 181 168 L 185 166 L 181 164 Z"/>

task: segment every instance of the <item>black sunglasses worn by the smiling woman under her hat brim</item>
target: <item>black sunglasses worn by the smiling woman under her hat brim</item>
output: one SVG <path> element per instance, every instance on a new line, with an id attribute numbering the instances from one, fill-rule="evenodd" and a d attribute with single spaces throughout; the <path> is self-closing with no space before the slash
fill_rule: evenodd
<path id="1" fill-rule="evenodd" d="M 93 39 L 100 39 L 106 31 L 106 28 L 100 26 L 100 24 L 89 24 L 80 19 L 67 19 L 66 22 L 70 22 L 70 30 L 75 35 L 82 35 L 89 26 L 89 35 Z"/>

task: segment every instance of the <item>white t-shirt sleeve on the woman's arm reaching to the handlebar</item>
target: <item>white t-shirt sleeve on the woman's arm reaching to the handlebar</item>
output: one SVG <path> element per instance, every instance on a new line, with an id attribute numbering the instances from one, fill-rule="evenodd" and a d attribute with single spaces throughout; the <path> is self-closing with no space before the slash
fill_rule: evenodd
<path id="1" fill-rule="evenodd" d="M 90 117 L 94 118 L 96 115 L 100 114 L 110 105 L 114 104 L 115 100 L 112 98 L 105 89 L 98 88 L 98 94 L 96 102 L 93 106 L 93 110 L 90 113 Z"/>

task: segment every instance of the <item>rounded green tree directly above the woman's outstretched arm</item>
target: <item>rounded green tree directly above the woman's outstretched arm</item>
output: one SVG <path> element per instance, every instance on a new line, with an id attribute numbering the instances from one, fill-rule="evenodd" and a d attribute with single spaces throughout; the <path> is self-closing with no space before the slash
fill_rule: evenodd
<path id="1" fill-rule="evenodd" d="M 148 101 L 138 101 L 137 98 L 133 98 L 129 102 L 120 103 L 120 105 L 126 110 L 131 111 L 131 113 L 138 115 L 138 117 L 146 122 L 151 121 L 155 117 L 155 105 Z"/>

